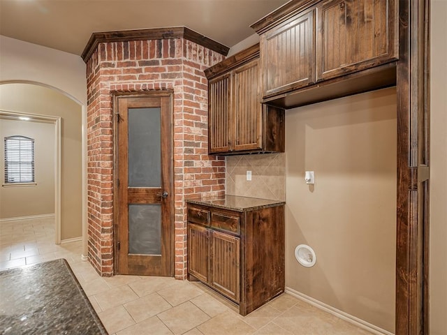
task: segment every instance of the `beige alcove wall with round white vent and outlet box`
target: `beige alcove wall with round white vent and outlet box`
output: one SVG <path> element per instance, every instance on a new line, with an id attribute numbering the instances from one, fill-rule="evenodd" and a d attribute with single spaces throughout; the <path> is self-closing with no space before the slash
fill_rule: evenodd
<path id="1" fill-rule="evenodd" d="M 395 88 L 287 110 L 286 287 L 394 332 L 395 217 Z"/>

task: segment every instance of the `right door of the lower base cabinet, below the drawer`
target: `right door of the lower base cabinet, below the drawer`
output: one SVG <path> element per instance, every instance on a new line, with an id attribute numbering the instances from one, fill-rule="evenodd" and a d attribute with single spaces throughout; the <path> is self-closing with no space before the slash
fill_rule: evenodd
<path id="1" fill-rule="evenodd" d="M 210 285 L 229 299 L 240 301 L 240 239 L 210 231 Z"/>

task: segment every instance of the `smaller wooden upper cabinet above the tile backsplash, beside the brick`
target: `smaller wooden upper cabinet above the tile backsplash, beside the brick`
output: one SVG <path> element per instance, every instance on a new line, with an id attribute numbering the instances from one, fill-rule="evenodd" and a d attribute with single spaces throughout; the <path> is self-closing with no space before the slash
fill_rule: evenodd
<path id="1" fill-rule="evenodd" d="M 208 153 L 284 151 L 284 110 L 261 104 L 259 45 L 205 70 Z"/>

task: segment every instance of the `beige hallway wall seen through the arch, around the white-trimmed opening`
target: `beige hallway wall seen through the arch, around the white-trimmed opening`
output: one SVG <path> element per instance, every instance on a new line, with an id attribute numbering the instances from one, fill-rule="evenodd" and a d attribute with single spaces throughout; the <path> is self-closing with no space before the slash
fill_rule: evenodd
<path id="1" fill-rule="evenodd" d="M 2 84 L 0 85 L 0 109 L 61 117 L 61 239 L 81 237 L 82 113 L 80 105 L 54 89 L 33 84 Z M 53 149 L 49 147 L 48 150 Z"/>

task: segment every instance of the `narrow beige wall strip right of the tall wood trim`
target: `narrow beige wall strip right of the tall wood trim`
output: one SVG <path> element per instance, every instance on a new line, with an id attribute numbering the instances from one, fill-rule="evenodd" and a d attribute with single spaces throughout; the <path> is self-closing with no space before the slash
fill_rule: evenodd
<path id="1" fill-rule="evenodd" d="M 431 1 L 430 334 L 447 334 L 447 1 Z"/>

